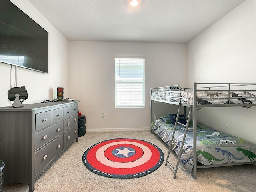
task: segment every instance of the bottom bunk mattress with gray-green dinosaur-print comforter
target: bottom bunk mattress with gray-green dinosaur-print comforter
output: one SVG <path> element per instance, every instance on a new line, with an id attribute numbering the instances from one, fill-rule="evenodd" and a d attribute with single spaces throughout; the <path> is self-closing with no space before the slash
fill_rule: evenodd
<path id="1" fill-rule="evenodd" d="M 161 117 L 150 124 L 150 130 L 170 146 L 174 124 L 167 123 L 168 117 Z M 192 122 L 190 122 L 192 124 Z M 174 134 L 174 142 L 181 146 L 185 127 L 177 124 Z M 197 126 L 197 162 L 203 165 L 225 164 L 225 163 L 246 163 L 256 161 L 256 145 L 244 139 L 225 134 L 206 126 Z M 172 150 L 177 155 L 180 148 L 172 144 Z M 193 162 L 193 126 L 188 127 L 183 147 L 184 152 L 180 161 L 186 169 L 191 172 Z"/>

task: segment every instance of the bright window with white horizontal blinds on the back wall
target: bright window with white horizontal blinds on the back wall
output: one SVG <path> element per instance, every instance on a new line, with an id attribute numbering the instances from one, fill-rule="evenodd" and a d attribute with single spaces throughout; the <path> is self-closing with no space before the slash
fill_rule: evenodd
<path id="1" fill-rule="evenodd" d="M 116 108 L 145 106 L 145 58 L 115 57 Z"/>

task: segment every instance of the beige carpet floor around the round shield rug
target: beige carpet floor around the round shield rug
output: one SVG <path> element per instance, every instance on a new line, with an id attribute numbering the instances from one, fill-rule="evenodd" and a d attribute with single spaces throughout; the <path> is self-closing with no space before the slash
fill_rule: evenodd
<path id="1" fill-rule="evenodd" d="M 134 179 L 107 178 L 89 171 L 82 162 L 84 151 L 102 140 L 136 138 L 168 148 L 150 131 L 87 132 L 37 180 L 34 192 L 256 192 L 256 166 L 228 166 L 199 169 L 197 179 L 180 165 L 176 179 L 164 163 L 156 171 Z M 170 160 L 177 156 L 170 154 Z M 3 192 L 26 192 L 28 184 L 7 184 Z"/>

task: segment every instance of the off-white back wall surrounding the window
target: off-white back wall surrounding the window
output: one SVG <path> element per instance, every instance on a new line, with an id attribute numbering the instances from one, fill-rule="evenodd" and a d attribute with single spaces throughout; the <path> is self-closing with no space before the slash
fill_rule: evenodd
<path id="1" fill-rule="evenodd" d="M 145 108 L 115 108 L 114 56 L 146 57 Z M 70 97 L 80 100 L 90 131 L 149 130 L 150 88 L 186 84 L 186 44 L 71 41 L 69 64 Z"/>

